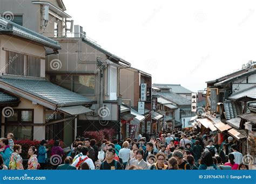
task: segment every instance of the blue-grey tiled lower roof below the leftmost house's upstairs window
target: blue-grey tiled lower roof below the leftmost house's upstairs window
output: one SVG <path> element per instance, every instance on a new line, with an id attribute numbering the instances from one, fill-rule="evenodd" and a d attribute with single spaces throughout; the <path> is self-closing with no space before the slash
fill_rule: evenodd
<path id="1" fill-rule="evenodd" d="M 73 93 L 72 91 L 57 86 L 44 79 L 15 79 L 13 77 L 2 77 L 0 81 L 15 88 L 21 89 L 29 94 L 35 95 L 53 104 L 63 106 L 91 103 L 88 98 Z"/>

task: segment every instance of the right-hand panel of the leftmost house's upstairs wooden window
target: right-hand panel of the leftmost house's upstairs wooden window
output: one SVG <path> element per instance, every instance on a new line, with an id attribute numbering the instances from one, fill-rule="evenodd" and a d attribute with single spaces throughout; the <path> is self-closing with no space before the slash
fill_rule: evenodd
<path id="1" fill-rule="evenodd" d="M 40 77 L 40 58 L 27 56 L 26 75 Z"/>

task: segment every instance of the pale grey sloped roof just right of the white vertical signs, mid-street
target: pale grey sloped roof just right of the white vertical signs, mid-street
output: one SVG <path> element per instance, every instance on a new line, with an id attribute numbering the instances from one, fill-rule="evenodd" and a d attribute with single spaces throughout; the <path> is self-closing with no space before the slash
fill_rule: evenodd
<path id="1" fill-rule="evenodd" d="M 155 96 L 161 96 L 163 98 L 165 98 L 166 100 L 169 100 L 173 103 L 176 103 L 179 106 L 183 106 L 183 105 L 191 105 L 191 101 L 187 100 L 186 98 L 173 93 L 173 92 L 157 92 L 157 91 L 153 91 L 153 95 Z"/>

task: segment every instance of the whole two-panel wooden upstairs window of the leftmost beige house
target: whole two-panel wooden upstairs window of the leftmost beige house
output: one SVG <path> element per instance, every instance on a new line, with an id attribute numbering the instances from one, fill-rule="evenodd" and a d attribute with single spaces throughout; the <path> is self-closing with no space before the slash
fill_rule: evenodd
<path id="1" fill-rule="evenodd" d="M 6 51 L 6 56 L 8 58 L 6 59 L 7 74 L 40 77 L 40 58 L 12 51 Z"/>

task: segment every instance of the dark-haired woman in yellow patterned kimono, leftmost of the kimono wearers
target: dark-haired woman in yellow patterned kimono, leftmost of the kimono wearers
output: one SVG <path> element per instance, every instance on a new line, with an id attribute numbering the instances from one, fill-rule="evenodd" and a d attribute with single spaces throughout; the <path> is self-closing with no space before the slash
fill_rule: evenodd
<path id="1" fill-rule="evenodd" d="M 14 152 L 11 154 L 11 159 L 10 159 L 10 164 L 9 164 L 9 169 L 10 170 L 23 170 L 23 165 L 22 165 L 22 157 L 19 155 L 19 153 L 22 152 L 22 147 L 21 145 L 14 145 Z"/>

